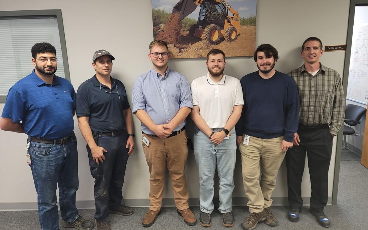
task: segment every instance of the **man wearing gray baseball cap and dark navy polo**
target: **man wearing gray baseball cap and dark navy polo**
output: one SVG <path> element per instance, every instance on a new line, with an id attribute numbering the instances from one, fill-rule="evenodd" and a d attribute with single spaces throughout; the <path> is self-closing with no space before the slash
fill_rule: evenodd
<path id="1" fill-rule="evenodd" d="M 125 167 L 134 149 L 133 118 L 124 84 L 112 78 L 115 60 L 106 50 L 93 54 L 96 74 L 77 91 L 78 126 L 87 142 L 91 175 L 95 178 L 95 226 L 109 230 L 109 213 L 129 216 L 121 204 Z"/>

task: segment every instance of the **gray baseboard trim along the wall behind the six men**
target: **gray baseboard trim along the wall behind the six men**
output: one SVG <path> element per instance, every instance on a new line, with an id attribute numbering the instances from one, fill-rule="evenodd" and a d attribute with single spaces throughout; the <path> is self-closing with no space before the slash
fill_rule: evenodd
<path id="1" fill-rule="evenodd" d="M 289 205 L 287 197 L 272 197 L 272 205 L 285 206 Z M 310 197 L 303 197 L 304 205 L 310 205 Z M 123 199 L 125 205 L 132 207 L 148 207 L 148 199 Z M 233 197 L 233 206 L 246 206 L 248 199 L 245 197 Z M 199 206 L 199 198 L 189 198 L 190 206 Z M 94 209 L 95 201 L 77 201 L 78 209 Z M 219 205 L 219 199 L 213 198 L 213 204 Z M 328 205 L 332 204 L 332 197 L 328 197 Z M 59 206 L 59 202 L 57 204 Z M 163 198 L 162 206 L 173 207 L 175 206 L 173 198 Z M 37 202 L 17 202 L 17 203 L 0 203 L 0 211 L 14 211 L 14 210 L 37 210 Z"/>

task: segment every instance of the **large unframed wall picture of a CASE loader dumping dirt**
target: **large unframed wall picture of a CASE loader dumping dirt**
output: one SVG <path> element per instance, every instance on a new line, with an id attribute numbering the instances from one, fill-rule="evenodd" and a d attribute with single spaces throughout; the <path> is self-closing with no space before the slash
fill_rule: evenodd
<path id="1" fill-rule="evenodd" d="M 167 42 L 171 58 L 253 56 L 256 0 L 152 0 L 153 38 Z"/>

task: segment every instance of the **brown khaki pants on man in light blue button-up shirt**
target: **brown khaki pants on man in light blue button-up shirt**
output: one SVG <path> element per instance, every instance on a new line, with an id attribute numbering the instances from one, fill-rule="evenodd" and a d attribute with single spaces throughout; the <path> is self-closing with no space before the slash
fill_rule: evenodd
<path id="1" fill-rule="evenodd" d="M 185 180 L 185 163 L 187 162 L 188 147 L 186 131 L 179 131 L 176 136 L 161 139 L 143 134 L 149 140 L 149 146 L 143 142 L 143 151 L 149 166 L 149 209 L 161 209 L 165 169 L 169 170 L 174 201 L 177 209 L 189 208 L 188 188 Z"/>

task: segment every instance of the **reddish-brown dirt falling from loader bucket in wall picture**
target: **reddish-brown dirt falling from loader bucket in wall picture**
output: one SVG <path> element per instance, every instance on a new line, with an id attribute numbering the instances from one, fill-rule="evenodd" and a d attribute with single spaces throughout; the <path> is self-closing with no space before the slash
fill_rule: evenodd
<path id="1" fill-rule="evenodd" d="M 179 21 L 180 12 L 170 14 L 167 17 L 167 21 L 164 27 L 164 32 L 157 36 L 157 39 L 163 40 L 170 44 L 176 44 L 180 38 L 180 27 L 181 23 Z"/>

